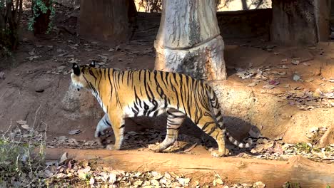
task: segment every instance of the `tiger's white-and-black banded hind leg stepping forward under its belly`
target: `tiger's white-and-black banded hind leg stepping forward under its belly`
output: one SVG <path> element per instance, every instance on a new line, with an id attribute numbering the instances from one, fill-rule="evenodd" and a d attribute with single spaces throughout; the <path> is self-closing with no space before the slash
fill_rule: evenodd
<path id="1" fill-rule="evenodd" d="M 178 139 L 178 128 L 182 125 L 185 118 L 186 115 L 178 110 L 167 110 L 167 131 L 165 140 L 158 145 L 149 145 L 148 148 L 156 152 L 161 152 L 166 150 L 167 147 L 173 145 L 173 143 Z"/>

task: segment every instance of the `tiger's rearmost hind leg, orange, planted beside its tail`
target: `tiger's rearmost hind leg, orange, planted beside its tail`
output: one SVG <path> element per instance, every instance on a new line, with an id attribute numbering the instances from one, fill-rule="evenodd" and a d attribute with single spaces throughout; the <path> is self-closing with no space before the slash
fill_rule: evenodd
<path id="1" fill-rule="evenodd" d="M 226 147 L 225 147 L 225 132 L 221 130 L 220 127 L 216 124 L 216 120 L 211 117 L 211 115 L 206 115 L 198 121 L 198 127 L 201 128 L 206 134 L 213 137 L 218 144 L 218 151 L 211 152 L 211 155 L 214 157 L 223 157 L 226 155 Z"/>

